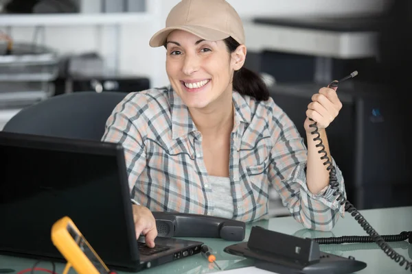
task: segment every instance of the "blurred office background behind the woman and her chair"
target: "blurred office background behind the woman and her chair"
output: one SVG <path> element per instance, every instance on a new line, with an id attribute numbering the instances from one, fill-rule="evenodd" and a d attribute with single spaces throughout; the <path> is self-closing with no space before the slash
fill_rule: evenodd
<path id="1" fill-rule="evenodd" d="M 0 129 L 22 108 L 49 97 L 168 84 L 164 49 L 150 48 L 148 40 L 178 1 L 0 1 Z M 359 72 L 339 88 L 343 110 L 328 129 L 331 153 L 358 209 L 412 204 L 403 130 L 409 121 L 402 119 L 402 90 L 393 86 L 398 74 L 389 73 L 400 66 L 387 62 L 410 60 L 402 55 L 409 51 L 398 49 L 407 48 L 402 37 L 411 31 L 405 25 L 399 39 L 399 25 L 382 17 L 396 2 L 229 0 L 244 20 L 246 66 L 261 73 L 303 136 L 312 94 Z M 407 24 L 411 9 L 400 10 L 399 21 Z M 6 54 L 10 40 L 14 51 Z M 271 197 L 271 216 L 287 214 L 277 195 Z"/>

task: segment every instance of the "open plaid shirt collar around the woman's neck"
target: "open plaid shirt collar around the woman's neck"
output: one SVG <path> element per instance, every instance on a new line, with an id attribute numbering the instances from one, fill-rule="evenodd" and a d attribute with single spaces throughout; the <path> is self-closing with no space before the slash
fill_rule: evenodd
<path id="1" fill-rule="evenodd" d="M 189 109 L 183 103 L 179 95 L 169 87 L 170 113 L 172 116 L 172 138 L 177 139 L 187 136 L 197 130 L 196 125 L 190 116 Z M 251 109 L 247 101 L 238 92 L 232 95 L 233 107 L 235 108 L 233 130 L 237 129 L 240 123 L 251 122 Z"/>

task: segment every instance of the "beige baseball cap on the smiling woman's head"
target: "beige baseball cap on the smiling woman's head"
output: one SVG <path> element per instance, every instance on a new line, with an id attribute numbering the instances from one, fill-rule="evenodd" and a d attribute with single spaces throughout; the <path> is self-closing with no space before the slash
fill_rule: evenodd
<path id="1" fill-rule="evenodd" d="M 244 44 L 244 29 L 238 12 L 225 0 L 182 0 L 166 18 L 166 27 L 150 39 L 150 47 L 162 47 L 170 32 L 181 29 L 209 41 L 231 36 Z"/>

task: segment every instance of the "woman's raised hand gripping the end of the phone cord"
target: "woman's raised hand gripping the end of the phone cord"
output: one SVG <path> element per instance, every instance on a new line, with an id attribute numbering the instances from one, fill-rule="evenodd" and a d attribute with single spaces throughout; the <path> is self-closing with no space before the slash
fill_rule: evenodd
<path id="1" fill-rule="evenodd" d="M 317 122 L 318 129 L 325 129 L 334 121 L 342 108 L 341 100 L 336 93 L 336 88 L 321 88 L 319 93 L 312 96 L 312 102 L 306 110 L 304 127 L 306 132 L 313 132 L 312 123 Z M 312 119 L 313 121 L 309 120 Z"/>

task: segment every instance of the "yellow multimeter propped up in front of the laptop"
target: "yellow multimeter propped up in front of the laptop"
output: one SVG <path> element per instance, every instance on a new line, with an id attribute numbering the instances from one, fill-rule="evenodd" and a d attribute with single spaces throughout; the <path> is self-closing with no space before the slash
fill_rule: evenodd
<path id="1" fill-rule="evenodd" d="M 113 274 L 80 233 L 73 221 L 65 216 L 52 226 L 52 242 L 67 260 L 63 274 L 71 266 L 79 274 Z"/>

